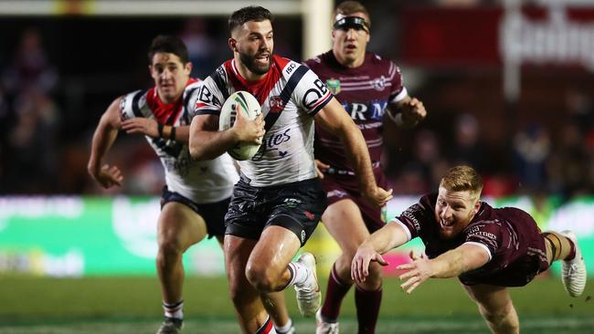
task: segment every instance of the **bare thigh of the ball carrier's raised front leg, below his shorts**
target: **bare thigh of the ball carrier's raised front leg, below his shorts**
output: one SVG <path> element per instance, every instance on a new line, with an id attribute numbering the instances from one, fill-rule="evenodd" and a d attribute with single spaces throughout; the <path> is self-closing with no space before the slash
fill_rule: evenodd
<path id="1" fill-rule="evenodd" d="M 280 275 L 300 247 L 299 238 L 290 229 L 270 225 L 264 229 L 251 252 L 249 264 Z"/>

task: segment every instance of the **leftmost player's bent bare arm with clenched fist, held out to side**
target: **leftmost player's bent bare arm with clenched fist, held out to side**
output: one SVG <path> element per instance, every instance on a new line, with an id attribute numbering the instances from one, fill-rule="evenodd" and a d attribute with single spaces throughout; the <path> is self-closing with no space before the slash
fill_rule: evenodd
<path id="1" fill-rule="evenodd" d="M 104 188 L 122 185 L 122 172 L 116 166 L 103 163 L 103 158 L 110 150 L 113 141 L 118 136 L 121 127 L 120 105 L 122 98 L 111 102 L 111 105 L 101 116 L 99 125 L 95 129 L 90 145 L 90 159 L 87 170 L 90 176 Z"/>

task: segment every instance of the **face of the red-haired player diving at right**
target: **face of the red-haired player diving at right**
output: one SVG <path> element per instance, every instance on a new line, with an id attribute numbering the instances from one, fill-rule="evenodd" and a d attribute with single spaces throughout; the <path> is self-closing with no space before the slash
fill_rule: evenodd
<path id="1" fill-rule="evenodd" d="M 435 218 L 440 227 L 440 237 L 451 239 L 459 235 L 471 222 L 480 205 L 476 196 L 469 191 L 449 192 L 440 187 L 435 204 Z"/>

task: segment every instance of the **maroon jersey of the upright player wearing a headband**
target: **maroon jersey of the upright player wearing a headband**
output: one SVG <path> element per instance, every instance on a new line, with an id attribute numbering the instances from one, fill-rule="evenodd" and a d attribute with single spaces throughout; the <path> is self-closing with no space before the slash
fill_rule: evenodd
<path id="1" fill-rule="evenodd" d="M 366 53 L 363 65 L 345 68 L 332 50 L 312 59 L 305 65 L 324 81 L 365 137 L 369 156 L 379 168 L 382 152 L 382 120 L 387 104 L 403 99 L 406 89 L 402 85 L 399 68 L 390 60 Z M 315 127 L 315 158 L 340 171 L 353 172 L 345 156 L 341 141 L 321 127 Z"/>

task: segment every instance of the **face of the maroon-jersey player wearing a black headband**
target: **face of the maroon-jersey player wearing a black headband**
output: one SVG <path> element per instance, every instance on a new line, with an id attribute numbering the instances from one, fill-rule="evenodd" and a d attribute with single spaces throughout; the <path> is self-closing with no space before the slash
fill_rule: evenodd
<path id="1" fill-rule="evenodd" d="M 369 18 L 363 13 L 349 16 L 359 16 L 365 18 L 367 22 L 369 21 Z M 334 55 L 341 64 L 358 66 L 363 63 L 369 42 L 369 33 L 366 29 L 354 27 L 334 29 L 332 41 L 334 42 Z"/>

